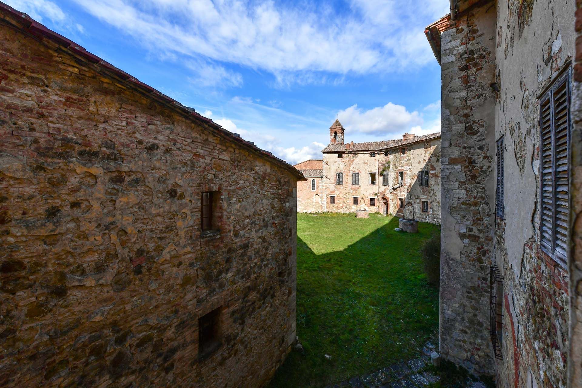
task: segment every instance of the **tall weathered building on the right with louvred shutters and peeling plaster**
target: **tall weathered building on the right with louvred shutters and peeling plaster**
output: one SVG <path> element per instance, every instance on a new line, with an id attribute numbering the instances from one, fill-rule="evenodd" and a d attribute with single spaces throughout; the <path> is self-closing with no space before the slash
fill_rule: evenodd
<path id="1" fill-rule="evenodd" d="M 442 68 L 441 354 L 499 387 L 579 387 L 576 3 L 450 5 L 425 31 Z"/>

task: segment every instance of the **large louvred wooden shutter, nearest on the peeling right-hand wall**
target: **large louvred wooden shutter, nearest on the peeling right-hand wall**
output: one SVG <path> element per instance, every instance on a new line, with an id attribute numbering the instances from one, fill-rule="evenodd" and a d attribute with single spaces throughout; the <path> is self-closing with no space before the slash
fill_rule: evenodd
<path id="1" fill-rule="evenodd" d="M 570 71 L 540 101 L 541 247 L 567 268 Z"/>

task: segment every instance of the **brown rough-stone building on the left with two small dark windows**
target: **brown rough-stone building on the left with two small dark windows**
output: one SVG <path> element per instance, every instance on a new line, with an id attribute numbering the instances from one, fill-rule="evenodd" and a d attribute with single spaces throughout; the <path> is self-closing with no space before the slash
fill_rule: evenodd
<path id="1" fill-rule="evenodd" d="M 0 63 L 0 386 L 264 385 L 301 173 L 3 3 Z"/>

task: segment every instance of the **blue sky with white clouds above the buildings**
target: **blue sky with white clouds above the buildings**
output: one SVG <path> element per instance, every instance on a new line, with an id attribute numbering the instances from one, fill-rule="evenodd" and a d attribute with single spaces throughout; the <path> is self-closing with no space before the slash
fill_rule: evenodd
<path id="1" fill-rule="evenodd" d="M 440 131 L 446 0 L 3 0 L 290 163 Z"/>

